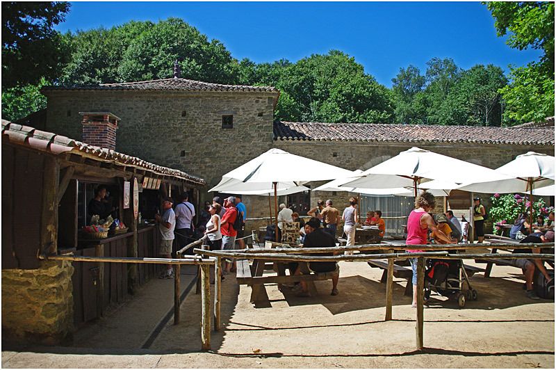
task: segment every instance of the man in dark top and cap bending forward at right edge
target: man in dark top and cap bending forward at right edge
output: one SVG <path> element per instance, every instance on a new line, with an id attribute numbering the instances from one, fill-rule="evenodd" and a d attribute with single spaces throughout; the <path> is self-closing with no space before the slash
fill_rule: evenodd
<path id="1" fill-rule="evenodd" d="M 519 243 L 552 243 L 554 241 L 554 232 L 548 231 L 545 234 L 541 232 L 534 232 L 529 234 L 525 239 L 522 239 Z M 541 248 L 522 248 L 515 249 L 514 253 L 540 253 Z M 533 290 L 533 276 L 535 266 L 539 269 L 539 272 L 544 275 L 547 281 L 552 279 L 552 276 L 548 275 L 548 271 L 544 268 L 544 264 L 541 259 L 526 259 L 526 258 L 516 258 L 510 259 L 512 266 L 521 268 L 523 275 L 525 275 L 525 289 L 527 289 L 526 295 L 531 299 L 539 299 L 537 293 Z"/>

